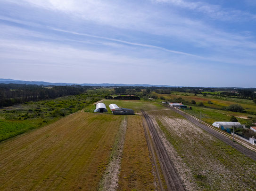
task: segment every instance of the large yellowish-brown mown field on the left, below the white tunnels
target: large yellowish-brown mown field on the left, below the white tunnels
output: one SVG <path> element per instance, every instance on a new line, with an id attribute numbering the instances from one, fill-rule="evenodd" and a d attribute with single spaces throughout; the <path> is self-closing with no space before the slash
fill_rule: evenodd
<path id="1" fill-rule="evenodd" d="M 121 121 L 79 111 L 0 143 L 0 190 L 96 191 Z"/>

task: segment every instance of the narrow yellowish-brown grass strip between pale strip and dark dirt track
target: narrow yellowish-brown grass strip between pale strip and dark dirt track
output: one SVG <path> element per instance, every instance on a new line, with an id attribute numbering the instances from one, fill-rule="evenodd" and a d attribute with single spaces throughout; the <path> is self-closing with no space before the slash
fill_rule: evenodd
<path id="1" fill-rule="evenodd" d="M 156 172 L 140 116 L 128 116 L 120 170 L 118 190 L 154 191 L 157 189 L 157 179 L 154 176 Z"/>

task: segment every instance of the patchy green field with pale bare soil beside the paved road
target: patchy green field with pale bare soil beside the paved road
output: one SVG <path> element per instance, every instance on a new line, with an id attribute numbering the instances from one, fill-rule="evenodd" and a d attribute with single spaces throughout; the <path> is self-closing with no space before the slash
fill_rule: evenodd
<path id="1" fill-rule="evenodd" d="M 187 119 L 164 113 L 151 118 L 186 190 L 254 190 L 253 160 Z"/>

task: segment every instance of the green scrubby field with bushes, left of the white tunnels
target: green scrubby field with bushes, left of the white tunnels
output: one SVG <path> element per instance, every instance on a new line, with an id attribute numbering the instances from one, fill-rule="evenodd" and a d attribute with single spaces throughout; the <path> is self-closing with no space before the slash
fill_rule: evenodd
<path id="1" fill-rule="evenodd" d="M 100 100 L 99 95 L 80 94 L 0 109 L 0 142 L 73 114 Z"/>

